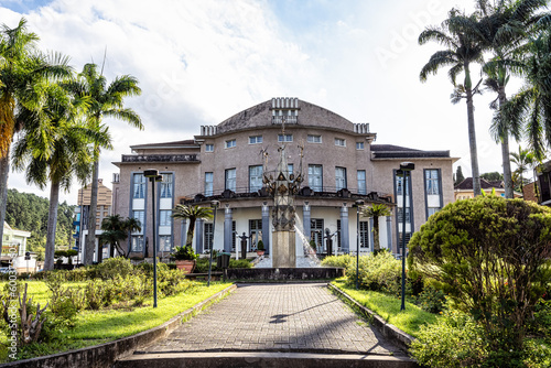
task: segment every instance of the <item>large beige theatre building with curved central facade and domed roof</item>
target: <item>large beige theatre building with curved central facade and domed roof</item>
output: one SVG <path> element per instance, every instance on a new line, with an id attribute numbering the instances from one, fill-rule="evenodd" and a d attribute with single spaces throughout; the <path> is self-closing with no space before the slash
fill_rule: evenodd
<path id="1" fill-rule="evenodd" d="M 240 111 L 216 126 L 203 126 L 193 139 L 133 145 L 115 165 L 114 212 L 142 224 L 128 240 L 131 257 L 152 255 L 152 187 L 143 171 L 156 169 L 158 250 L 166 255 L 185 241 L 187 225 L 171 217 L 176 204 L 210 206 L 218 201 L 216 226 L 196 223 L 193 245 L 199 253 L 210 247 L 233 251 L 244 234 L 248 249 L 262 239 L 272 245 L 271 208 L 263 174 L 276 175 L 279 149 L 285 147 L 288 170 L 303 182 L 296 206 L 296 256 L 301 239 L 313 239 L 318 252 L 331 237 L 338 252 L 356 252 L 358 199 L 382 203 L 391 216 L 379 219 L 380 245 L 398 252 L 406 216 L 406 237 L 433 213 L 453 202 L 450 151 L 423 151 L 392 144 L 375 144 L 376 133 L 365 122 L 354 123 L 339 115 L 298 98 L 273 98 Z M 380 139 L 379 139 L 380 140 Z M 418 145 L 422 142 L 417 141 Z M 401 162 L 413 162 L 411 185 L 397 176 Z M 302 165 L 302 166 L 301 166 Z M 402 195 L 406 194 L 406 210 Z M 372 219 L 359 217 L 359 250 L 372 250 Z M 300 236 L 300 232 L 304 237 Z"/>

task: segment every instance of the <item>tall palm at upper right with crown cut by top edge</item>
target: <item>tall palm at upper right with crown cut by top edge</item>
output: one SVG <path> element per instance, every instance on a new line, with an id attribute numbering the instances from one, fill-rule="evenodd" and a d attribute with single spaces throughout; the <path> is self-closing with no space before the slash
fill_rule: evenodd
<path id="1" fill-rule="evenodd" d="M 497 94 L 497 99 L 490 104 L 490 107 L 498 111 L 491 130 L 496 140 L 501 143 L 505 196 L 512 198 L 509 136 L 514 136 L 518 141 L 520 127 L 518 122 L 507 125 L 507 120 L 500 118 L 501 108 L 507 101 L 505 88 L 511 73 L 515 74 L 517 71 L 515 52 L 526 43 L 529 31 L 543 17 L 541 10 L 545 7 L 547 0 L 496 2 L 477 0 L 476 4 L 480 18 L 478 26 L 474 28 L 473 32 L 493 54 L 493 58 L 484 65 L 483 71 L 487 75 L 485 80 L 487 89 Z"/>

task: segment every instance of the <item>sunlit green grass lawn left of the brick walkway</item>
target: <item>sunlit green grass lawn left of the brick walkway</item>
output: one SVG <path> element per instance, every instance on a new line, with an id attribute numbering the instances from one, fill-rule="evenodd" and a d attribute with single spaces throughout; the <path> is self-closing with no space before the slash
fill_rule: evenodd
<path id="1" fill-rule="evenodd" d="M 50 299 L 46 284 L 42 281 L 29 281 L 28 283 L 28 294 L 33 297 L 33 302 L 45 305 Z M 0 290 L 3 289 L 3 284 L 0 283 Z M 68 284 L 72 288 L 82 288 L 86 283 L 72 282 Z M 82 311 L 77 315 L 76 326 L 73 329 L 64 331 L 65 338 L 62 342 L 40 344 L 33 349 L 33 356 L 98 345 L 156 327 L 229 285 L 231 283 L 212 282 L 210 288 L 207 288 L 206 282 L 197 282 L 197 286 L 188 292 L 160 297 L 156 309 L 152 306 L 153 299 L 149 299 L 141 307 Z M 8 351 L 4 345 L 7 342 L 7 335 L 2 331 L 0 333 L 0 362 L 4 362 L 7 359 Z M 29 357 L 31 355 L 24 356 L 24 358 Z"/>

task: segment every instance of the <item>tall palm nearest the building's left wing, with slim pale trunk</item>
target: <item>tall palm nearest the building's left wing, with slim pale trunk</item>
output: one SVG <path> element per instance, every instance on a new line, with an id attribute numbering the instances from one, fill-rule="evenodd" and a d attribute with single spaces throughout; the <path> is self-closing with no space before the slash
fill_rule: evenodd
<path id="1" fill-rule="evenodd" d="M 138 87 L 138 79 L 130 75 L 116 77 L 107 85 L 102 71 L 98 73 L 96 64 L 86 64 L 79 78 L 67 84 L 69 90 L 77 96 L 89 98 L 89 108 L 86 112 L 88 125 L 91 129 L 108 133 L 104 118 L 115 118 L 123 120 L 129 125 L 143 129 L 141 119 L 132 109 L 125 108 L 125 98 L 138 96 L 141 89 Z M 96 246 L 96 212 L 98 203 L 98 175 L 99 154 L 101 149 L 109 149 L 99 142 L 94 143 L 95 162 L 91 178 L 90 210 L 88 218 L 88 238 L 85 245 L 85 264 L 90 264 L 94 260 L 94 248 Z"/>

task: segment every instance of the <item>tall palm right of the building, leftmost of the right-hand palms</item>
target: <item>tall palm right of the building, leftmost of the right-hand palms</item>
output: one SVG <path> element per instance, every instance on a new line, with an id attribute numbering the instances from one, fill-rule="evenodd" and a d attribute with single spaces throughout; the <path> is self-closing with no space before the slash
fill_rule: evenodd
<path id="1" fill-rule="evenodd" d="M 480 42 L 472 35 L 465 24 L 474 25 L 476 17 L 460 14 L 455 9 L 449 13 L 449 19 L 441 26 L 430 26 L 419 35 L 419 44 L 435 41 L 445 50 L 434 53 L 420 73 L 421 82 L 425 82 L 429 74 L 436 74 L 442 67 L 450 66 L 447 75 L 455 87 L 452 102 L 466 99 L 468 120 L 468 143 L 471 148 L 471 169 L 473 174 L 473 190 L 475 195 L 480 195 L 480 177 L 478 172 L 478 154 L 476 149 L 475 117 L 473 96 L 478 93 L 479 83 L 473 86 L 471 78 L 471 63 L 483 62 L 483 47 Z M 462 85 L 456 84 L 460 73 L 465 78 Z"/>

